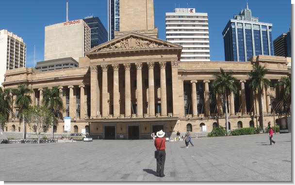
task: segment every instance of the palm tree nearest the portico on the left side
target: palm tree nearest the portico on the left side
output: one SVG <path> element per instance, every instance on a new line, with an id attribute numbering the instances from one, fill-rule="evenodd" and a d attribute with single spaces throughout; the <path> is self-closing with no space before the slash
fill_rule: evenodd
<path id="1" fill-rule="evenodd" d="M 61 93 L 59 92 L 59 89 L 57 86 L 54 86 L 52 88 L 43 88 L 43 105 L 47 107 L 54 115 L 55 117 L 58 117 L 58 111 L 62 111 L 64 109 L 63 107 L 63 99 L 60 97 Z M 53 138 L 53 120 L 54 118 L 51 118 L 51 132 L 52 132 L 52 138 Z"/>

